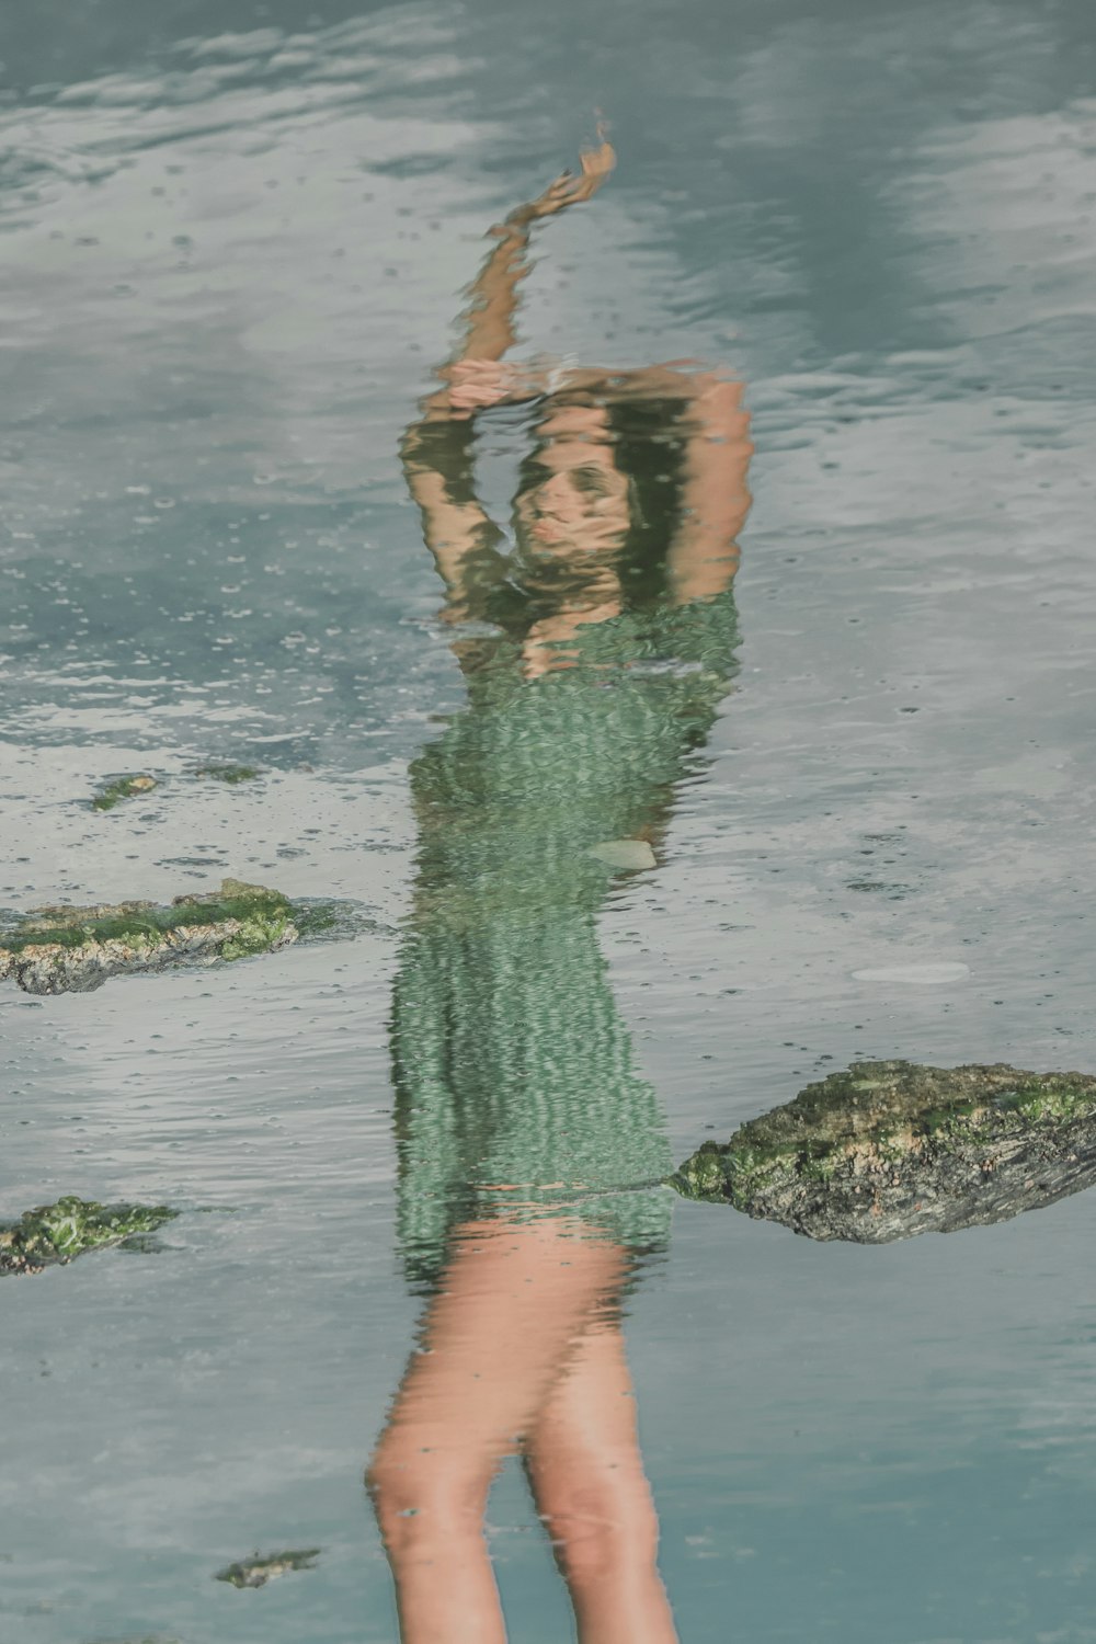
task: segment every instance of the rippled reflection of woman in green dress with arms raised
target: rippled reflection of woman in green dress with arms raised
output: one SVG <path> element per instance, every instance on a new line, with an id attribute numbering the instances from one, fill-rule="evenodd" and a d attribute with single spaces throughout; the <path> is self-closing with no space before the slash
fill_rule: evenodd
<path id="1" fill-rule="evenodd" d="M 404 437 L 468 705 L 412 768 L 414 911 L 394 985 L 399 1231 L 431 1295 L 373 1457 L 404 1644 L 500 1644 L 491 1480 L 527 1468 L 583 1644 L 675 1639 L 656 1567 L 621 1297 L 664 1246 L 672 1167 L 596 917 L 652 863 L 733 671 L 749 506 L 741 388 L 675 367 L 500 363 L 531 224 L 493 230 L 458 358 Z M 480 506 L 478 411 L 529 401 L 516 547 Z"/>

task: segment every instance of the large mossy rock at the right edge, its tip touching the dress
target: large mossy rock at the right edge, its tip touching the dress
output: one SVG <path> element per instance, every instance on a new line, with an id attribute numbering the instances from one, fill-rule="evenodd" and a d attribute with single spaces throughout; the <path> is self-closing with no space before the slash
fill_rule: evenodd
<path id="1" fill-rule="evenodd" d="M 1004 1221 L 1093 1182 L 1096 1078 L 1002 1062 L 854 1062 L 670 1177 L 687 1198 L 861 1245 Z"/>

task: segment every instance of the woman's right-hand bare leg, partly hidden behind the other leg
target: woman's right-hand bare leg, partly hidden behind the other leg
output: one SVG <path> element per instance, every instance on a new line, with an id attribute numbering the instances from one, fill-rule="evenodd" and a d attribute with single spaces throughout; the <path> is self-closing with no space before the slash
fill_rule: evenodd
<path id="1" fill-rule="evenodd" d="M 616 1325 L 582 1338 L 529 1437 L 527 1468 L 582 1644 L 677 1644 Z"/>

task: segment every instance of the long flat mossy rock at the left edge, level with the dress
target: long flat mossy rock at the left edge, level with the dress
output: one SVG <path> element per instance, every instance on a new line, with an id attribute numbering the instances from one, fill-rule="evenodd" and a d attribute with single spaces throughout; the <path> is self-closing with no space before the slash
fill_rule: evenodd
<path id="1" fill-rule="evenodd" d="M 89 993 L 122 972 L 266 954 L 296 942 L 306 922 L 320 919 L 281 891 L 240 880 L 168 906 L 38 907 L 0 932 L 0 978 L 12 977 L 25 993 Z"/>

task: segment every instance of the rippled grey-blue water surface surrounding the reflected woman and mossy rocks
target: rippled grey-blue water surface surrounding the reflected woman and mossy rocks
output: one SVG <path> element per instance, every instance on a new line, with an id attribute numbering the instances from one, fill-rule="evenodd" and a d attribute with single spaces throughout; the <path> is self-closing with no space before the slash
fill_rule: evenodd
<path id="1" fill-rule="evenodd" d="M 2 1631 L 380 1644 L 408 766 L 463 700 L 396 444 L 480 235 L 603 110 L 523 353 L 748 385 L 739 672 L 600 919 L 674 1156 L 856 1055 L 1093 1070 L 1096 26 L 100 0 L 0 58 L 0 904 L 233 873 L 376 922 L 0 998 L 0 1212 L 192 1212 L 3 1287 Z M 524 437 L 485 423 L 503 518 Z M 128 769 L 164 786 L 90 812 Z M 1096 1639 L 1093 1231 L 1096 1195 L 882 1249 L 677 1203 L 626 1333 L 682 1639 Z M 567 1636 L 513 1465 L 490 1527 L 514 1637 Z M 210 1580 L 283 1545 L 319 1568 Z"/>

